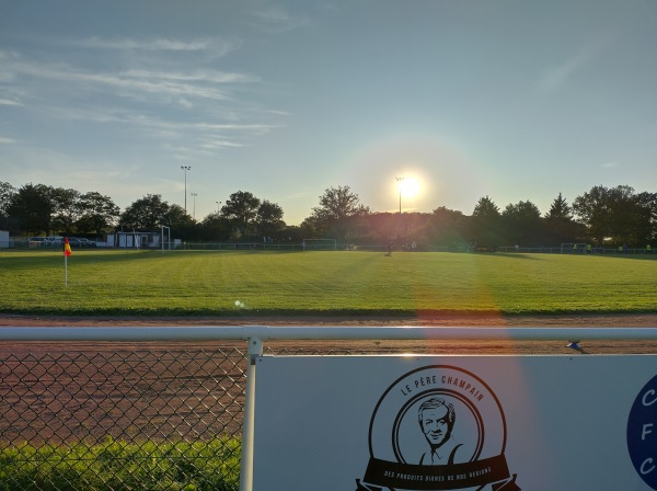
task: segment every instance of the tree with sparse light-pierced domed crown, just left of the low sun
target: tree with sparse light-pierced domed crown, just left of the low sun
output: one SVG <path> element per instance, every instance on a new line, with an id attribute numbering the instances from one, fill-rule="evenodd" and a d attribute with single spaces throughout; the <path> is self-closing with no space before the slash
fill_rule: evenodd
<path id="1" fill-rule="evenodd" d="M 334 235 L 336 240 L 345 242 L 356 231 L 358 218 L 369 213 L 349 186 L 337 186 L 324 191 L 320 206 L 312 208 L 307 220 L 310 219 L 320 235 Z"/>

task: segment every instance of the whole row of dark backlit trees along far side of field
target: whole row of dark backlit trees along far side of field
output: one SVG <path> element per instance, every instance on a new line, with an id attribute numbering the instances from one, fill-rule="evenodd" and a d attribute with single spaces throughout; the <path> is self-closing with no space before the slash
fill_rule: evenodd
<path id="1" fill-rule="evenodd" d="M 572 204 L 554 198 L 548 213 L 530 201 L 500 209 L 481 197 L 472 215 L 440 206 L 431 213 L 372 212 L 349 186 L 330 187 L 301 225 L 287 225 L 283 208 L 250 192 L 238 191 L 203 220 L 159 194 L 147 194 L 123 212 L 97 192 L 45 184 L 20 189 L 0 181 L 0 229 L 18 236 L 80 235 L 102 237 L 114 230 L 170 227 L 185 241 L 293 241 L 331 238 L 338 243 L 415 242 L 423 247 L 549 247 L 586 242 L 596 247 L 646 247 L 657 238 L 657 193 L 631 186 L 596 185 Z"/>

